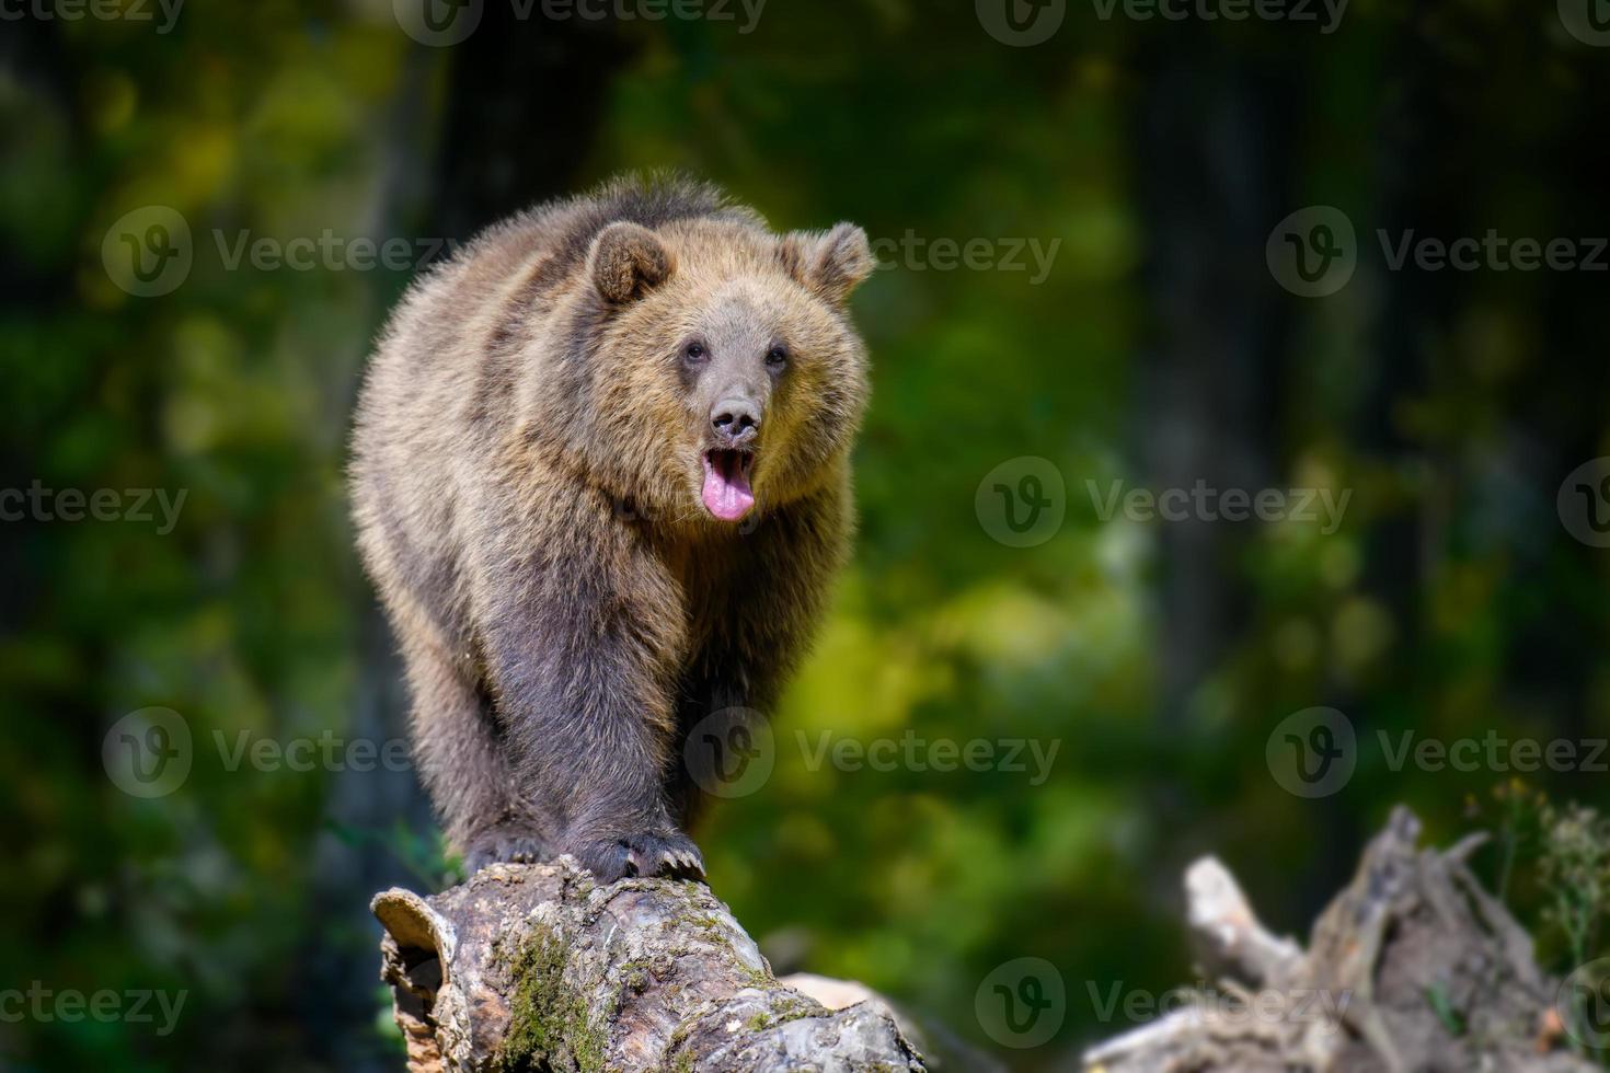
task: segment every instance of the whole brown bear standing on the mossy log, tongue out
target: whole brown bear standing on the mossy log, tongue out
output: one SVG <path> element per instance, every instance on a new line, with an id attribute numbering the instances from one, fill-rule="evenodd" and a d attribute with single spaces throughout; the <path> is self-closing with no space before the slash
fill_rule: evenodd
<path id="1" fill-rule="evenodd" d="M 702 875 L 683 763 L 768 709 L 848 549 L 866 235 L 621 179 L 420 278 L 357 404 L 359 549 L 470 870 Z"/>

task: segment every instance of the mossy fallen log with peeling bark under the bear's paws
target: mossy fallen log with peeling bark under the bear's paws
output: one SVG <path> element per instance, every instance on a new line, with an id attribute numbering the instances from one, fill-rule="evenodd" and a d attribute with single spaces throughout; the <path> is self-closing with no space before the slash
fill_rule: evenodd
<path id="1" fill-rule="evenodd" d="M 707 886 L 601 886 L 568 857 L 370 909 L 412 1073 L 924 1070 L 889 1007 L 779 983 Z"/>

